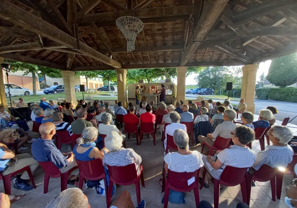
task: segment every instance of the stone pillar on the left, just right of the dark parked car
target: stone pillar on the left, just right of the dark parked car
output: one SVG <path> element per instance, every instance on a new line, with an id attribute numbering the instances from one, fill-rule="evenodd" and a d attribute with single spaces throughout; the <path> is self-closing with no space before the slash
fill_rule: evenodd
<path id="1" fill-rule="evenodd" d="M 64 88 L 65 88 L 65 100 L 73 104 L 73 106 L 77 105 L 76 95 L 75 95 L 75 86 L 74 86 L 74 71 L 61 71 Z"/>

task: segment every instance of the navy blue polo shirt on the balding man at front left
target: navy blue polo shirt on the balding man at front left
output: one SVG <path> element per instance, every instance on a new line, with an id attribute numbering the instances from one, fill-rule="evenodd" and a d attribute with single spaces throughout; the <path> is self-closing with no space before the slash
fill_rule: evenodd
<path id="1" fill-rule="evenodd" d="M 39 162 L 51 161 L 57 168 L 66 167 L 68 156 L 64 156 L 53 144 L 53 140 L 38 138 L 32 144 L 32 155 Z"/>

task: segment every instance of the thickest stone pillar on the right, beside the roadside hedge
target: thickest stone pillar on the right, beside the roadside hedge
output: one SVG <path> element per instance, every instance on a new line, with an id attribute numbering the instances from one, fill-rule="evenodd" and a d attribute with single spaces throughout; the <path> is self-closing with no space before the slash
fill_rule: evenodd
<path id="1" fill-rule="evenodd" d="M 258 64 L 248 64 L 243 66 L 243 82 L 241 98 L 246 99 L 247 110 L 254 113 L 254 95 L 257 78 Z"/>

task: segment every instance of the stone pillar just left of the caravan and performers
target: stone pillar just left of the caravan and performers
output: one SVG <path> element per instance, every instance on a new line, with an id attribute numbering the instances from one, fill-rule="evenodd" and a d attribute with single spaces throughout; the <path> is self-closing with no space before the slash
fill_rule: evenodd
<path id="1" fill-rule="evenodd" d="M 118 101 L 123 102 L 123 107 L 127 108 L 127 69 L 115 69 Z"/>

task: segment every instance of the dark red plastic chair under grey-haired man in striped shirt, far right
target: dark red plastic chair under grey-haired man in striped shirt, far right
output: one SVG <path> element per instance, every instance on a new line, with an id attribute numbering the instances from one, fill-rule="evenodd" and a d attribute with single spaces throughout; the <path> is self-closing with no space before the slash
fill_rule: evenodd
<path id="1" fill-rule="evenodd" d="M 275 173 L 277 169 L 272 168 L 269 165 L 262 165 L 258 170 L 255 170 L 252 175 L 247 173 L 247 205 L 249 206 L 250 201 L 250 192 L 251 192 L 251 181 L 260 181 L 260 182 L 266 182 L 270 181 L 271 186 L 271 196 L 272 201 L 275 202 L 275 196 L 276 196 L 276 183 L 275 183 Z"/>

